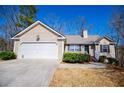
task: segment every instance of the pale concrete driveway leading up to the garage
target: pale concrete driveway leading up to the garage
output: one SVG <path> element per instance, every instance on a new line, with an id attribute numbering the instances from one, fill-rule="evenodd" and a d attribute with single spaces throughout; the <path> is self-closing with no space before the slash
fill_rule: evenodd
<path id="1" fill-rule="evenodd" d="M 48 86 L 57 60 L 11 60 L 0 63 L 1 87 Z"/>

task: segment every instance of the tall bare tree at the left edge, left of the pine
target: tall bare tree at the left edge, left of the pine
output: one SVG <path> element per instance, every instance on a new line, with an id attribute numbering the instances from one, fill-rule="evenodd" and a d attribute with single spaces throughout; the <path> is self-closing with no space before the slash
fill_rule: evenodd
<path id="1" fill-rule="evenodd" d="M 19 32 L 16 23 L 19 21 L 18 18 L 18 6 L 0 6 L 0 19 L 3 20 L 0 25 L 3 31 L 3 37 L 7 41 L 7 50 L 12 50 L 13 42 L 11 37 Z"/>

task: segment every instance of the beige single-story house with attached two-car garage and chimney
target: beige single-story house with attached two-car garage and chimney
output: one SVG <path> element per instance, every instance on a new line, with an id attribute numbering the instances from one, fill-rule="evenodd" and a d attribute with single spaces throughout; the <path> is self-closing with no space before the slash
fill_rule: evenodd
<path id="1" fill-rule="evenodd" d="M 13 38 L 18 59 L 59 59 L 64 52 L 88 53 L 98 58 L 105 55 L 115 58 L 115 42 L 107 36 L 62 35 L 46 24 L 36 21 Z"/>

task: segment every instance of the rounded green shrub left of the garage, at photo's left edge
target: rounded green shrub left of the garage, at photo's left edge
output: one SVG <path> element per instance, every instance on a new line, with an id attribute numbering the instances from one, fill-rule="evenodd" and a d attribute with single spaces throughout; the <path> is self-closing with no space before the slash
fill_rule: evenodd
<path id="1" fill-rule="evenodd" d="M 0 52 L 0 59 L 2 60 L 9 60 L 9 59 L 15 59 L 16 55 L 13 52 L 5 51 Z"/>

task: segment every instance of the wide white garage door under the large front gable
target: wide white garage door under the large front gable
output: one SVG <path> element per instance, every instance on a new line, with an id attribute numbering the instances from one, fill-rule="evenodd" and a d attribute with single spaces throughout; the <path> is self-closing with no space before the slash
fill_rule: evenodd
<path id="1" fill-rule="evenodd" d="M 19 49 L 19 58 L 24 59 L 57 59 L 56 43 L 23 43 Z"/>

